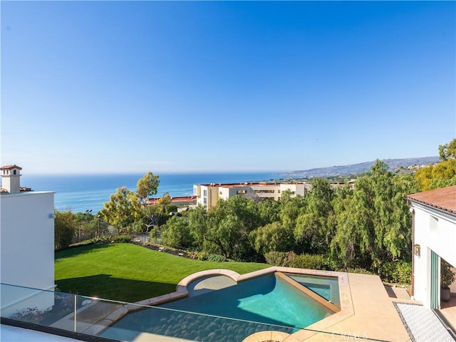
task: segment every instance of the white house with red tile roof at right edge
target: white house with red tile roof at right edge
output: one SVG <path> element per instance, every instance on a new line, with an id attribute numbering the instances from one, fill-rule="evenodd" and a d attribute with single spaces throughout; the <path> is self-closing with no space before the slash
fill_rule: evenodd
<path id="1" fill-rule="evenodd" d="M 456 186 L 407 197 L 413 212 L 412 294 L 440 309 L 440 258 L 456 266 Z M 456 283 L 450 286 L 456 292 Z"/>

